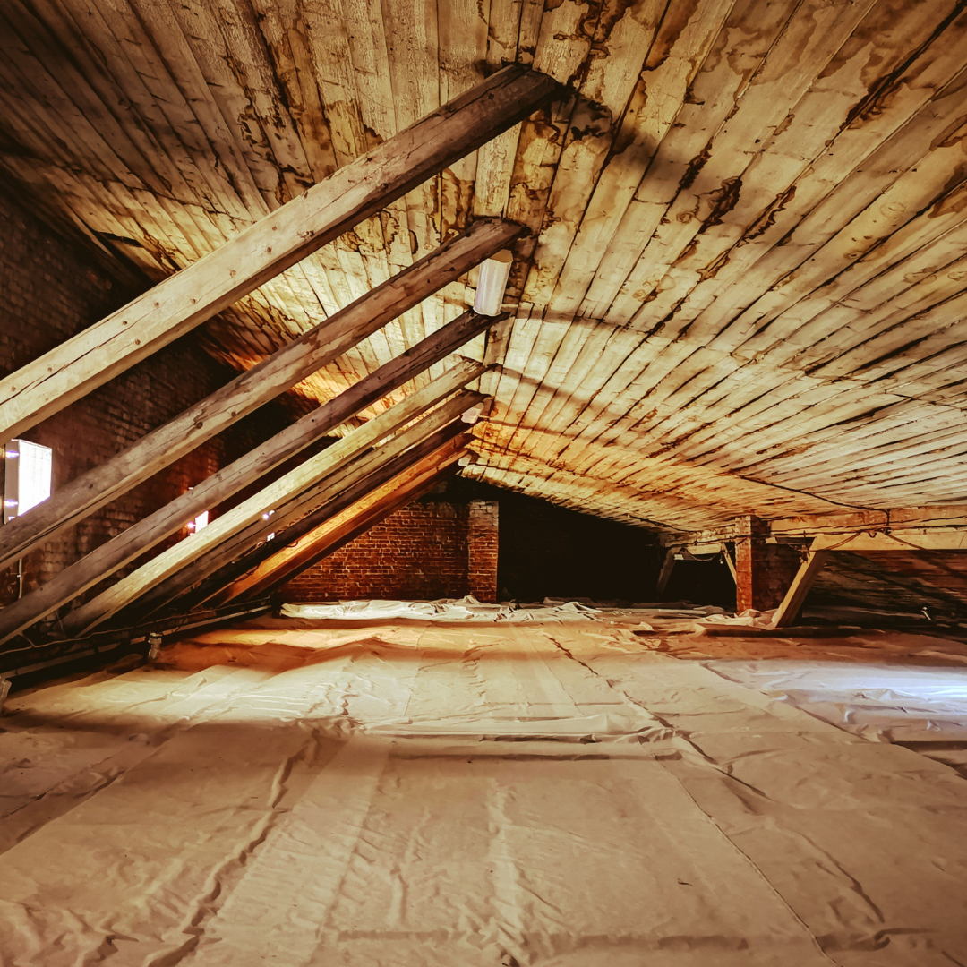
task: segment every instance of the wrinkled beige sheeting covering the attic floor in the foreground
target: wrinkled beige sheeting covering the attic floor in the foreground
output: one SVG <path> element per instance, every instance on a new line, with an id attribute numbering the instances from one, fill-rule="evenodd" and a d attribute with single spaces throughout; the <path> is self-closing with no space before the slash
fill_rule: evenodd
<path id="1" fill-rule="evenodd" d="M 967 962 L 967 783 L 665 647 L 268 620 L 14 695 L 0 964 Z"/>

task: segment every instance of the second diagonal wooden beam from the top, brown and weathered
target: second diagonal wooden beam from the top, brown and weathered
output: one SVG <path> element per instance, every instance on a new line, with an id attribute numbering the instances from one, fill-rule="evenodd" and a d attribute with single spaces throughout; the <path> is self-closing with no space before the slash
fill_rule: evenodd
<path id="1" fill-rule="evenodd" d="M 520 232 L 520 226 L 511 222 L 475 222 L 447 245 L 377 286 L 127 450 L 61 487 L 49 500 L 0 529 L 0 568 L 295 386 L 401 312 L 419 305 L 431 292 L 504 248 Z"/>

